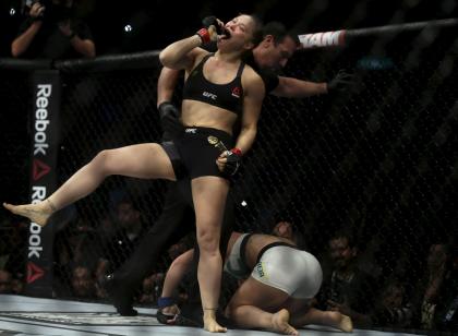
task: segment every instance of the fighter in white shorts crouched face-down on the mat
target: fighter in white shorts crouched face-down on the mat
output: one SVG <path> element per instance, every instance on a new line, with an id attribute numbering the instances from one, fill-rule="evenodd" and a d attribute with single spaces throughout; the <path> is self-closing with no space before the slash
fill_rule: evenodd
<path id="1" fill-rule="evenodd" d="M 311 305 L 322 285 L 322 267 L 315 256 L 299 250 L 293 241 L 270 235 L 232 232 L 226 255 L 225 272 L 243 280 L 225 310 L 238 327 L 287 335 L 299 335 L 296 327 L 306 324 L 352 331 L 349 316 Z M 180 310 L 173 293 L 192 268 L 192 260 L 193 250 L 189 250 L 167 272 L 158 302 L 161 323 L 182 324 L 178 321 Z"/>

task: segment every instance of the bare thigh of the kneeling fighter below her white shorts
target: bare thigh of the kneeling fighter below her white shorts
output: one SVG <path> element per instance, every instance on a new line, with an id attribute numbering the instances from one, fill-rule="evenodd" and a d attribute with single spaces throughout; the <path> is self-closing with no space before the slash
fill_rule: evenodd
<path id="1" fill-rule="evenodd" d="M 266 311 L 276 311 L 288 298 L 289 296 L 285 291 L 260 283 L 250 276 L 237 289 L 229 301 L 228 309 L 254 305 Z"/>

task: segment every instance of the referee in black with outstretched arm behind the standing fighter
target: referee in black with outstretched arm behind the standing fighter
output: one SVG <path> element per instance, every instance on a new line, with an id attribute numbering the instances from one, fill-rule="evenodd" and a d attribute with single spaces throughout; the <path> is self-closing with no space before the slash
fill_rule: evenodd
<path id="1" fill-rule="evenodd" d="M 207 16 L 204 19 L 204 25 L 208 26 L 215 20 L 214 16 Z M 245 61 L 260 73 L 266 92 L 280 97 L 301 98 L 346 88 L 350 76 L 342 72 L 328 83 L 279 76 L 278 70 L 287 64 L 299 46 L 298 36 L 288 33 L 281 23 L 270 22 L 264 25 L 263 40 L 246 55 Z M 179 121 L 180 113 L 170 103 L 179 76 L 179 71 L 162 68 L 158 80 L 157 101 L 165 141 L 170 141 L 183 131 L 183 125 Z M 135 289 L 154 268 L 160 253 L 193 230 L 193 225 L 189 223 L 193 221 L 193 213 L 189 183 L 186 181 L 170 182 L 162 214 L 128 262 L 108 276 L 109 291 L 121 315 L 136 314 L 136 311 L 132 309 Z M 183 226 L 184 221 L 188 221 L 186 226 Z M 221 253 L 226 251 L 227 240 L 234 226 L 233 221 L 233 203 L 229 194 L 221 233 Z"/>

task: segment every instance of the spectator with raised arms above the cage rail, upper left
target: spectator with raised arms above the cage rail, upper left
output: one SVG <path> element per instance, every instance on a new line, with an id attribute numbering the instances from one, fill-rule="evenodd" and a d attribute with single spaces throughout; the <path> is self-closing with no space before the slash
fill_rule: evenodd
<path id="1" fill-rule="evenodd" d="M 73 16 L 73 0 L 33 0 L 11 44 L 11 55 L 68 59 L 95 57 L 96 52 L 89 27 Z"/>

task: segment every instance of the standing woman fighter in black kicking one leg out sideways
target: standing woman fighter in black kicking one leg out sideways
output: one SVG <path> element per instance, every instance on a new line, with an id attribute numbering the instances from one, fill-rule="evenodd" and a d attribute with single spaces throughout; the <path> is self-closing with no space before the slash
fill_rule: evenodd
<path id="1" fill-rule="evenodd" d="M 261 39 L 260 23 L 252 15 L 241 14 L 224 28 L 228 34 L 218 38 L 217 31 L 222 29 L 222 24 L 219 26 L 217 22 L 160 52 L 164 65 L 186 73 L 181 116 L 185 129 L 180 137 L 161 145 L 148 143 L 103 151 L 45 201 L 3 204 L 14 214 L 46 225 L 52 213 L 86 196 L 110 175 L 190 179 L 201 252 L 197 278 L 204 328 L 209 332 L 226 332 L 216 321 L 216 309 L 222 265 L 220 226 L 228 179 L 242 153 L 254 142 L 265 94 L 262 79 L 241 60 Z M 212 40 L 217 40 L 215 53 L 198 48 Z M 232 127 L 239 117 L 241 132 L 233 141 Z M 215 140 L 232 149 L 221 154 Z"/>

